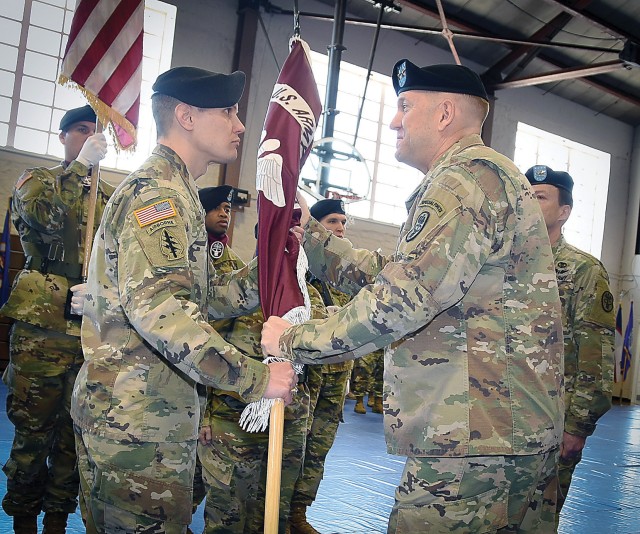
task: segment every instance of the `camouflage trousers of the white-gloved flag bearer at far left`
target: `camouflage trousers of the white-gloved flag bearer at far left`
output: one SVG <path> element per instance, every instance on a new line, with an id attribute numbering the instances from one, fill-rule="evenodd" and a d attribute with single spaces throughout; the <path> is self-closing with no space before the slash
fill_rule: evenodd
<path id="1" fill-rule="evenodd" d="M 3 467 L 2 507 L 10 516 L 73 513 L 78 470 L 69 409 L 82 365 L 80 339 L 16 322 L 9 343 L 11 361 L 3 379 L 15 435 Z"/>

